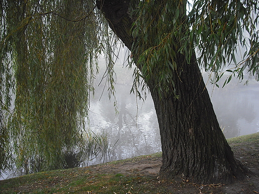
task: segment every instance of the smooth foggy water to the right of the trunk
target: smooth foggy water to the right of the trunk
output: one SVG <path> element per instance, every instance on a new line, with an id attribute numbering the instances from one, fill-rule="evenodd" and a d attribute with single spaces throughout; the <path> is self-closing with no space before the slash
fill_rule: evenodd
<path id="1" fill-rule="evenodd" d="M 246 79 L 246 78 L 245 78 Z M 220 81 L 223 85 L 225 80 Z M 220 126 L 226 138 L 259 132 L 259 83 L 233 80 L 222 88 L 207 85 Z"/>

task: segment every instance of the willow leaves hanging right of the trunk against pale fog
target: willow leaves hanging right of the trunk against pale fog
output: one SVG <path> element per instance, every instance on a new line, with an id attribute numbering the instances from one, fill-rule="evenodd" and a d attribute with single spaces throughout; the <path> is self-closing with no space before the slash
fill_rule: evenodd
<path id="1" fill-rule="evenodd" d="M 215 82 L 225 67 L 231 73 L 225 84 L 232 75 L 243 79 L 244 72 L 259 80 L 258 0 L 196 0 L 188 18 L 189 42 L 199 51 L 199 64 L 216 74 Z"/>

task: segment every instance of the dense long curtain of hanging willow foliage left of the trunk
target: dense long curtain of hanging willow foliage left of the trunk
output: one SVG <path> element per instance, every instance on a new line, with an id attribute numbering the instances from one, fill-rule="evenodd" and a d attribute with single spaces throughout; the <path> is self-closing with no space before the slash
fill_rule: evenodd
<path id="1" fill-rule="evenodd" d="M 108 41 L 104 37 L 109 28 L 93 1 L 2 0 L 0 5 L 1 77 L 5 79 L 1 102 L 10 105 L 13 88 L 7 134 L 16 165 L 25 173 L 64 168 L 67 153 L 87 151 L 89 95 L 94 92 L 98 54 L 105 50 L 111 57 L 112 41 L 101 44 Z M 113 86 L 112 60 L 108 67 Z"/>

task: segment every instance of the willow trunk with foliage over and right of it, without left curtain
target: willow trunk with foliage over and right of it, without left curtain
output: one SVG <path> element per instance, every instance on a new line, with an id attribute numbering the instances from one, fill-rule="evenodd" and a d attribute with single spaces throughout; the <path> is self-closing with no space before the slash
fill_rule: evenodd
<path id="1" fill-rule="evenodd" d="M 160 175 L 200 183 L 243 180 L 248 171 L 221 131 L 199 65 L 215 73 L 215 82 L 225 66 L 231 73 L 226 83 L 245 70 L 258 78 L 259 3 L 196 0 L 188 13 L 187 0 L 96 3 L 131 51 L 135 84 L 142 77 L 153 98 L 163 152 Z M 237 63 L 239 46 L 247 52 Z"/>

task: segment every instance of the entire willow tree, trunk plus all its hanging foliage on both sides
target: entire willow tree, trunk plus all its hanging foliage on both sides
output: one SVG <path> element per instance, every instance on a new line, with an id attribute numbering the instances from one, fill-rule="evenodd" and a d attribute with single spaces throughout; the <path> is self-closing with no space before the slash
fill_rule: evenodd
<path id="1" fill-rule="evenodd" d="M 152 95 L 163 151 L 161 176 L 200 183 L 245 178 L 248 171 L 220 129 L 199 65 L 213 71 L 215 81 L 231 63 L 233 75 L 242 78 L 247 69 L 258 76 L 257 1 L 197 0 L 188 14 L 187 0 L 0 2 L 1 74 L 6 80 L 1 100 L 9 101 L 13 82 L 8 73 L 13 72 L 15 108 L 9 129 L 18 161 L 59 168 L 64 150 L 81 146 L 93 62 L 101 51 L 107 52 L 113 93 L 111 45 L 116 41 L 97 5 L 131 51 L 135 86 L 143 78 L 143 88 Z M 238 44 L 248 51 L 241 63 L 233 55 Z"/>

